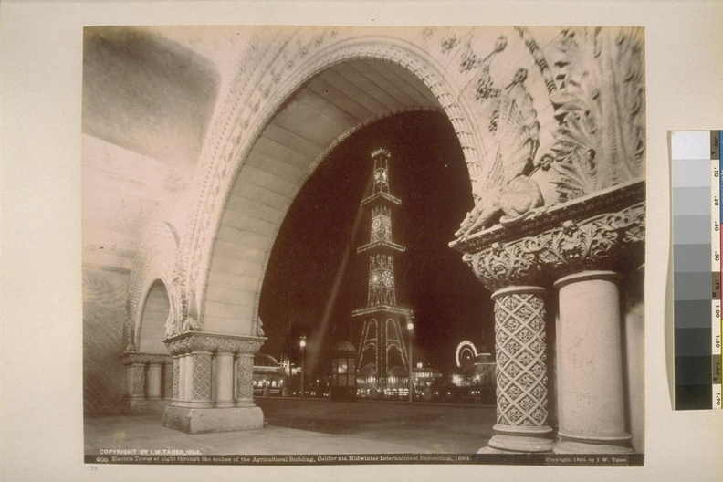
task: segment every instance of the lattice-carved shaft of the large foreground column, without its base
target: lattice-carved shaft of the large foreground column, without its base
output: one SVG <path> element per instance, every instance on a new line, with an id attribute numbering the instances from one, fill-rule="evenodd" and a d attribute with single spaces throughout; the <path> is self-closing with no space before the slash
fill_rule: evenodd
<path id="1" fill-rule="evenodd" d="M 536 293 L 495 300 L 498 424 L 542 426 L 547 422 L 545 306 Z"/>

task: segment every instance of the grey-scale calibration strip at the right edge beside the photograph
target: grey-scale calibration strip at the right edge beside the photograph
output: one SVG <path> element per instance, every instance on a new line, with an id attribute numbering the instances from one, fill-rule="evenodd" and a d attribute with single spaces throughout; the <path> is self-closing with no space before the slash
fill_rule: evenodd
<path id="1" fill-rule="evenodd" d="M 722 408 L 720 132 L 671 138 L 676 410 Z"/>

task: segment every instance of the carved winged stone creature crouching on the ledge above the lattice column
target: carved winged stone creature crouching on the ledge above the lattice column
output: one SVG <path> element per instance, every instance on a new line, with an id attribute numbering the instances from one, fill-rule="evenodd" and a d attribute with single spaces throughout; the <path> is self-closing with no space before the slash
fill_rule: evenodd
<path id="1" fill-rule="evenodd" d="M 543 204 L 540 187 L 528 177 L 540 146 L 540 122 L 525 89 L 525 79 L 527 69 L 520 68 L 512 83 L 500 89 L 495 99 L 497 106 L 493 106 L 490 116 L 493 149 L 482 159 L 484 171 L 472 193 L 475 208 L 467 213 L 455 233 L 457 238 L 465 239 L 498 221 L 514 224 Z"/>

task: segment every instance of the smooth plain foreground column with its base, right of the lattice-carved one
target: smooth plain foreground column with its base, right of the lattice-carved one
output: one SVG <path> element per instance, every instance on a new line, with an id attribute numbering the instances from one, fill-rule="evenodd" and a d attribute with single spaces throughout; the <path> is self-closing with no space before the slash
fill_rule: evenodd
<path id="1" fill-rule="evenodd" d="M 612 271 L 561 278 L 558 454 L 632 452 L 625 431 L 620 296 Z"/>

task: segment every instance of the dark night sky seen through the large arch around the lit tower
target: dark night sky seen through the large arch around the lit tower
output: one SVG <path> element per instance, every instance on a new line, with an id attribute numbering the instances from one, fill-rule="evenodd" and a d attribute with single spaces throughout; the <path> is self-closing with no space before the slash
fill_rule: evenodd
<path id="1" fill-rule="evenodd" d="M 371 152 L 392 153 L 390 193 L 397 305 L 414 309 L 414 363 L 449 371 L 463 340 L 492 348 L 492 302 L 461 254 L 447 244 L 472 207 L 464 157 L 443 114 L 407 112 L 377 121 L 341 142 L 320 163 L 288 211 L 269 259 L 259 315 L 261 351 L 299 363 L 308 337 L 308 372 L 329 370 L 329 353 L 350 338 L 351 310 L 366 306 Z M 406 333 L 406 329 L 403 328 Z M 359 341 L 352 340 L 358 347 Z"/>

